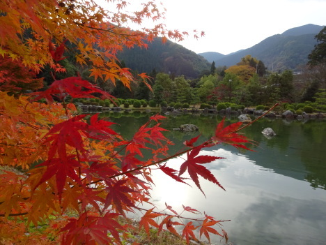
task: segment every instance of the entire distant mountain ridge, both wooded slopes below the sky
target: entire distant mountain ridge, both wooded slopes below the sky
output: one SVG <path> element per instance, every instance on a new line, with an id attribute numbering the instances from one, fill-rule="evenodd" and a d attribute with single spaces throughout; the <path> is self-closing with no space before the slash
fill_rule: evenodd
<path id="1" fill-rule="evenodd" d="M 261 43 L 239 50 L 231 54 L 205 52 L 196 54 L 191 50 L 167 41 L 162 43 L 156 38 L 148 43 L 148 49 L 134 47 L 118 53 L 118 59 L 125 65 L 139 73 L 157 72 L 173 75 L 185 75 L 187 79 L 195 79 L 202 74 L 210 73 L 212 61 L 215 66 L 233 66 L 240 62 L 242 57 L 251 55 L 263 61 L 268 70 L 300 70 L 308 61 L 308 55 L 316 45 L 315 36 L 324 26 L 306 24 L 265 38 Z M 254 34 L 252 34 L 254 35 Z"/>

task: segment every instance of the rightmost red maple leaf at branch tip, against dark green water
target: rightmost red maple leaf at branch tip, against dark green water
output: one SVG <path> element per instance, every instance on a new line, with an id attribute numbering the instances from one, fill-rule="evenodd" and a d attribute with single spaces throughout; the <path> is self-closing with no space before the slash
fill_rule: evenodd
<path id="1" fill-rule="evenodd" d="M 248 149 L 246 146 L 243 145 L 243 143 L 248 143 L 249 141 L 244 135 L 240 135 L 239 133 L 235 133 L 238 131 L 240 126 L 242 125 L 242 122 L 239 121 L 235 124 L 231 124 L 229 126 L 224 127 L 224 119 L 217 125 L 217 128 L 215 130 L 215 136 L 212 137 L 212 141 L 215 143 L 223 142 L 227 144 L 231 144 L 234 147 L 237 148 L 244 148 Z"/>

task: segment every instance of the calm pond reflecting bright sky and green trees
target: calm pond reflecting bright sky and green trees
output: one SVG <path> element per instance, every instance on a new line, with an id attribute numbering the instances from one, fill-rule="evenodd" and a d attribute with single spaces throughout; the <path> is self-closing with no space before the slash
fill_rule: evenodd
<path id="1" fill-rule="evenodd" d="M 126 138 L 146 123 L 151 114 L 102 114 Z M 201 133 L 199 141 L 212 137 L 222 117 L 183 114 L 166 116 L 166 137 L 176 143 L 171 153 L 183 142 Z M 226 119 L 228 124 L 238 121 Z M 173 131 L 181 124 L 196 124 L 199 133 Z M 263 128 L 273 128 L 277 136 L 268 140 Z M 224 222 L 230 244 L 326 244 L 326 121 L 287 121 L 260 119 L 243 132 L 255 144 L 254 151 L 217 145 L 202 154 L 222 156 L 207 167 L 226 191 L 201 179 L 205 196 L 194 184 L 179 184 L 153 171 L 153 203 L 164 209 L 166 202 L 177 211 L 190 206 Z M 182 161 L 173 159 L 169 166 L 178 169 Z M 190 182 L 189 182 L 190 183 Z M 220 244 L 219 237 L 212 237 Z"/>

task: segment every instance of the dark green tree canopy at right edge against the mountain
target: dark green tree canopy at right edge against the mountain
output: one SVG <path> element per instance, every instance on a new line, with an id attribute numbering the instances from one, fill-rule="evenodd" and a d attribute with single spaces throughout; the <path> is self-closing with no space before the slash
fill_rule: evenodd
<path id="1" fill-rule="evenodd" d="M 318 44 L 315 45 L 314 50 L 308 56 L 308 64 L 311 66 L 326 63 L 326 27 L 315 36 L 315 39 L 318 41 Z"/>

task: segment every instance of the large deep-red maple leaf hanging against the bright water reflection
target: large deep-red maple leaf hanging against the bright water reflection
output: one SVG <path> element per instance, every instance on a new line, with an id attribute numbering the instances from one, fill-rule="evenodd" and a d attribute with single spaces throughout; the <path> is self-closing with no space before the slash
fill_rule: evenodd
<path id="1" fill-rule="evenodd" d="M 203 193 L 203 190 L 201 189 L 201 185 L 199 184 L 198 175 L 201 175 L 204 179 L 208 179 L 214 184 L 217 184 L 220 188 L 222 188 L 224 191 L 224 187 L 219 184 L 219 181 L 215 178 L 214 175 L 212 175 L 212 172 L 205 168 L 203 165 L 204 163 L 210 163 L 212 161 L 215 161 L 217 159 L 221 159 L 221 157 L 218 156 L 197 156 L 199 154 L 199 151 L 201 151 L 202 146 L 194 147 L 192 151 L 187 152 L 187 161 L 185 161 L 180 166 L 179 176 L 183 175 L 185 170 L 188 169 L 188 173 L 196 186 L 201 190 Z M 197 164 L 199 163 L 199 164 Z M 205 193 L 203 193 L 205 195 Z"/>

